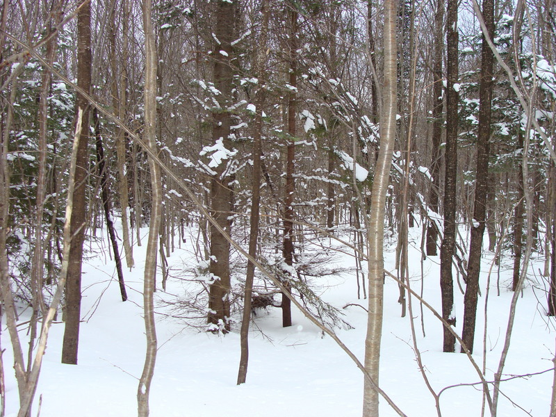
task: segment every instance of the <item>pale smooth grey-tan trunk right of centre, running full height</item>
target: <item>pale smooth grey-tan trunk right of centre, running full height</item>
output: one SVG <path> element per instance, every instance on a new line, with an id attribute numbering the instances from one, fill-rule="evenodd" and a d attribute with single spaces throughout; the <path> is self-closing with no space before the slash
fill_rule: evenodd
<path id="1" fill-rule="evenodd" d="M 368 221 L 368 324 L 365 339 L 365 368 L 374 385 L 365 379 L 363 416 L 379 415 L 379 360 L 382 337 L 384 293 L 384 211 L 395 142 L 396 121 L 396 2 L 384 1 L 384 84 L 380 117 L 380 149 L 373 180 Z"/>

